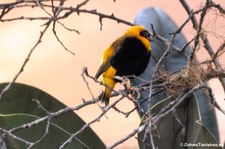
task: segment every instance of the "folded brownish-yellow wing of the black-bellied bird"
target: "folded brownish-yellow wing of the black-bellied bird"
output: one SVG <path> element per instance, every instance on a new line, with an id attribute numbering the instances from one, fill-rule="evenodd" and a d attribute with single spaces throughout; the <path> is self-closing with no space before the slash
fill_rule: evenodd
<path id="1" fill-rule="evenodd" d="M 124 37 L 119 37 L 114 41 L 109 48 L 107 48 L 102 54 L 101 66 L 98 68 L 95 78 L 97 79 L 102 73 L 104 73 L 110 66 L 110 60 L 120 48 L 120 44 L 123 42 Z"/>

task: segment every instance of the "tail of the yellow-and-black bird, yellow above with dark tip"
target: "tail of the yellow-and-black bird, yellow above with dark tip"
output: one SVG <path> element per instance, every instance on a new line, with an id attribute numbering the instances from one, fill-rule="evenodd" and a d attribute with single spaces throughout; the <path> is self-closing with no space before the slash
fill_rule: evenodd
<path id="1" fill-rule="evenodd" d="M 102 94 L 100 95 L 100 99 L 103 103 L 105 103 L 105 106 L 108 106 L 112 89 L 115 86 L 115 80 L 111 78 L 104 78 L 103 83 L 106 85 L 106 87 L 105 87 L 105 91 L 102 92 Z"/>

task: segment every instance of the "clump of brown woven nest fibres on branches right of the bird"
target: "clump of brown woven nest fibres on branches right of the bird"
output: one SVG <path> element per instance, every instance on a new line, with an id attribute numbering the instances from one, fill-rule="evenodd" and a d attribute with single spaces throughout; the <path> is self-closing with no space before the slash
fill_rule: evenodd
<path id="1" fill-rule="evenodd" d="M 199 65 L 191 63 L 184 69 L 168 73 L 162 69 L 158 70 L 158 80 L 162 82 L 163 88 L 171 95 L 177 97 L 198 85 L 200 82 L 208 81 L 210 73 L 215 72 L 211 64 Z"/>

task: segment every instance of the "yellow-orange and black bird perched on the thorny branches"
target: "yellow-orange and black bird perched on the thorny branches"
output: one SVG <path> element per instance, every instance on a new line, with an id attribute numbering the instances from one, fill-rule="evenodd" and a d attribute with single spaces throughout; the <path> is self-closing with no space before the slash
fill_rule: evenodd
<path id="1" fill-rule="evenodd" d="M 150 34 L 143 26 L 131 26 L 124 35 L 116 39 L 102 53 L 101 65 L 95 75 L 100 75 L 105 91 L 99 96 L 107 106 L 112 89 L 119 82 L 115 76 L 139 76 L 142 74 L 151 56 Z"/>

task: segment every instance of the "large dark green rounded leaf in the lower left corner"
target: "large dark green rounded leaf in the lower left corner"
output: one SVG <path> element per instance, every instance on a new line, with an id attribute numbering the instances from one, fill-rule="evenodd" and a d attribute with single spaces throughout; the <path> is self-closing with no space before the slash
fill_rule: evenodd
<path id="1" fill-rule="evenodd" d="M 0 90 L 6 85 L 7 83 L 0 84 Z M 38 99 L 41 105 L 50 112 L 56 112 L 66 107 L 63 103 L 44 91 L 28 85 L 15 83 L 0 101 L 0 126 L 4 129 L 11 129 L 34 121 L 39 117 L 46 116 L 45 112 L 39 109 L 32 99 Z M 69 138 L 69 134 L 80 130 L 80 128 L 85 125 L 85 122 L 74 112 L 60 115 L 51 122 L 48 136 L 40 143 L 40 145 L 37 145 L 37 148 L 59 147 L 60 143 L 63 143 L 63 141 Z M 29 129 L 20 130 L 16 132 L 16 135 L 25 137 L 28 141 L 35 141 L 40 139 L 40 136 L 43 135 L 45 127 L 46 122 Z M 9 140 L 7 140 L 6 143 L 7 146 L 15 145 Z M 78 135 L 77 139 L 74 139 L 73 143 L 68 145 L 68 147 L 70 146 L 78 149 L 87 147 L 99 149 L 105 148 L 103 142 L 90 128 L 85 129 Z"/>

